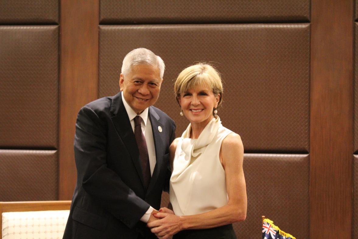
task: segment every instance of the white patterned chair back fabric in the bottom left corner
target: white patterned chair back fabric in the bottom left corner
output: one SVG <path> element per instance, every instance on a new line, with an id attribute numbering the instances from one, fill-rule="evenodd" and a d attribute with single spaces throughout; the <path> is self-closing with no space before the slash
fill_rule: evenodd
<path id="1" fill-rule="evenodd" d="M 2 239 L 62 238 L 69 210 L 3 212 Z"/>

